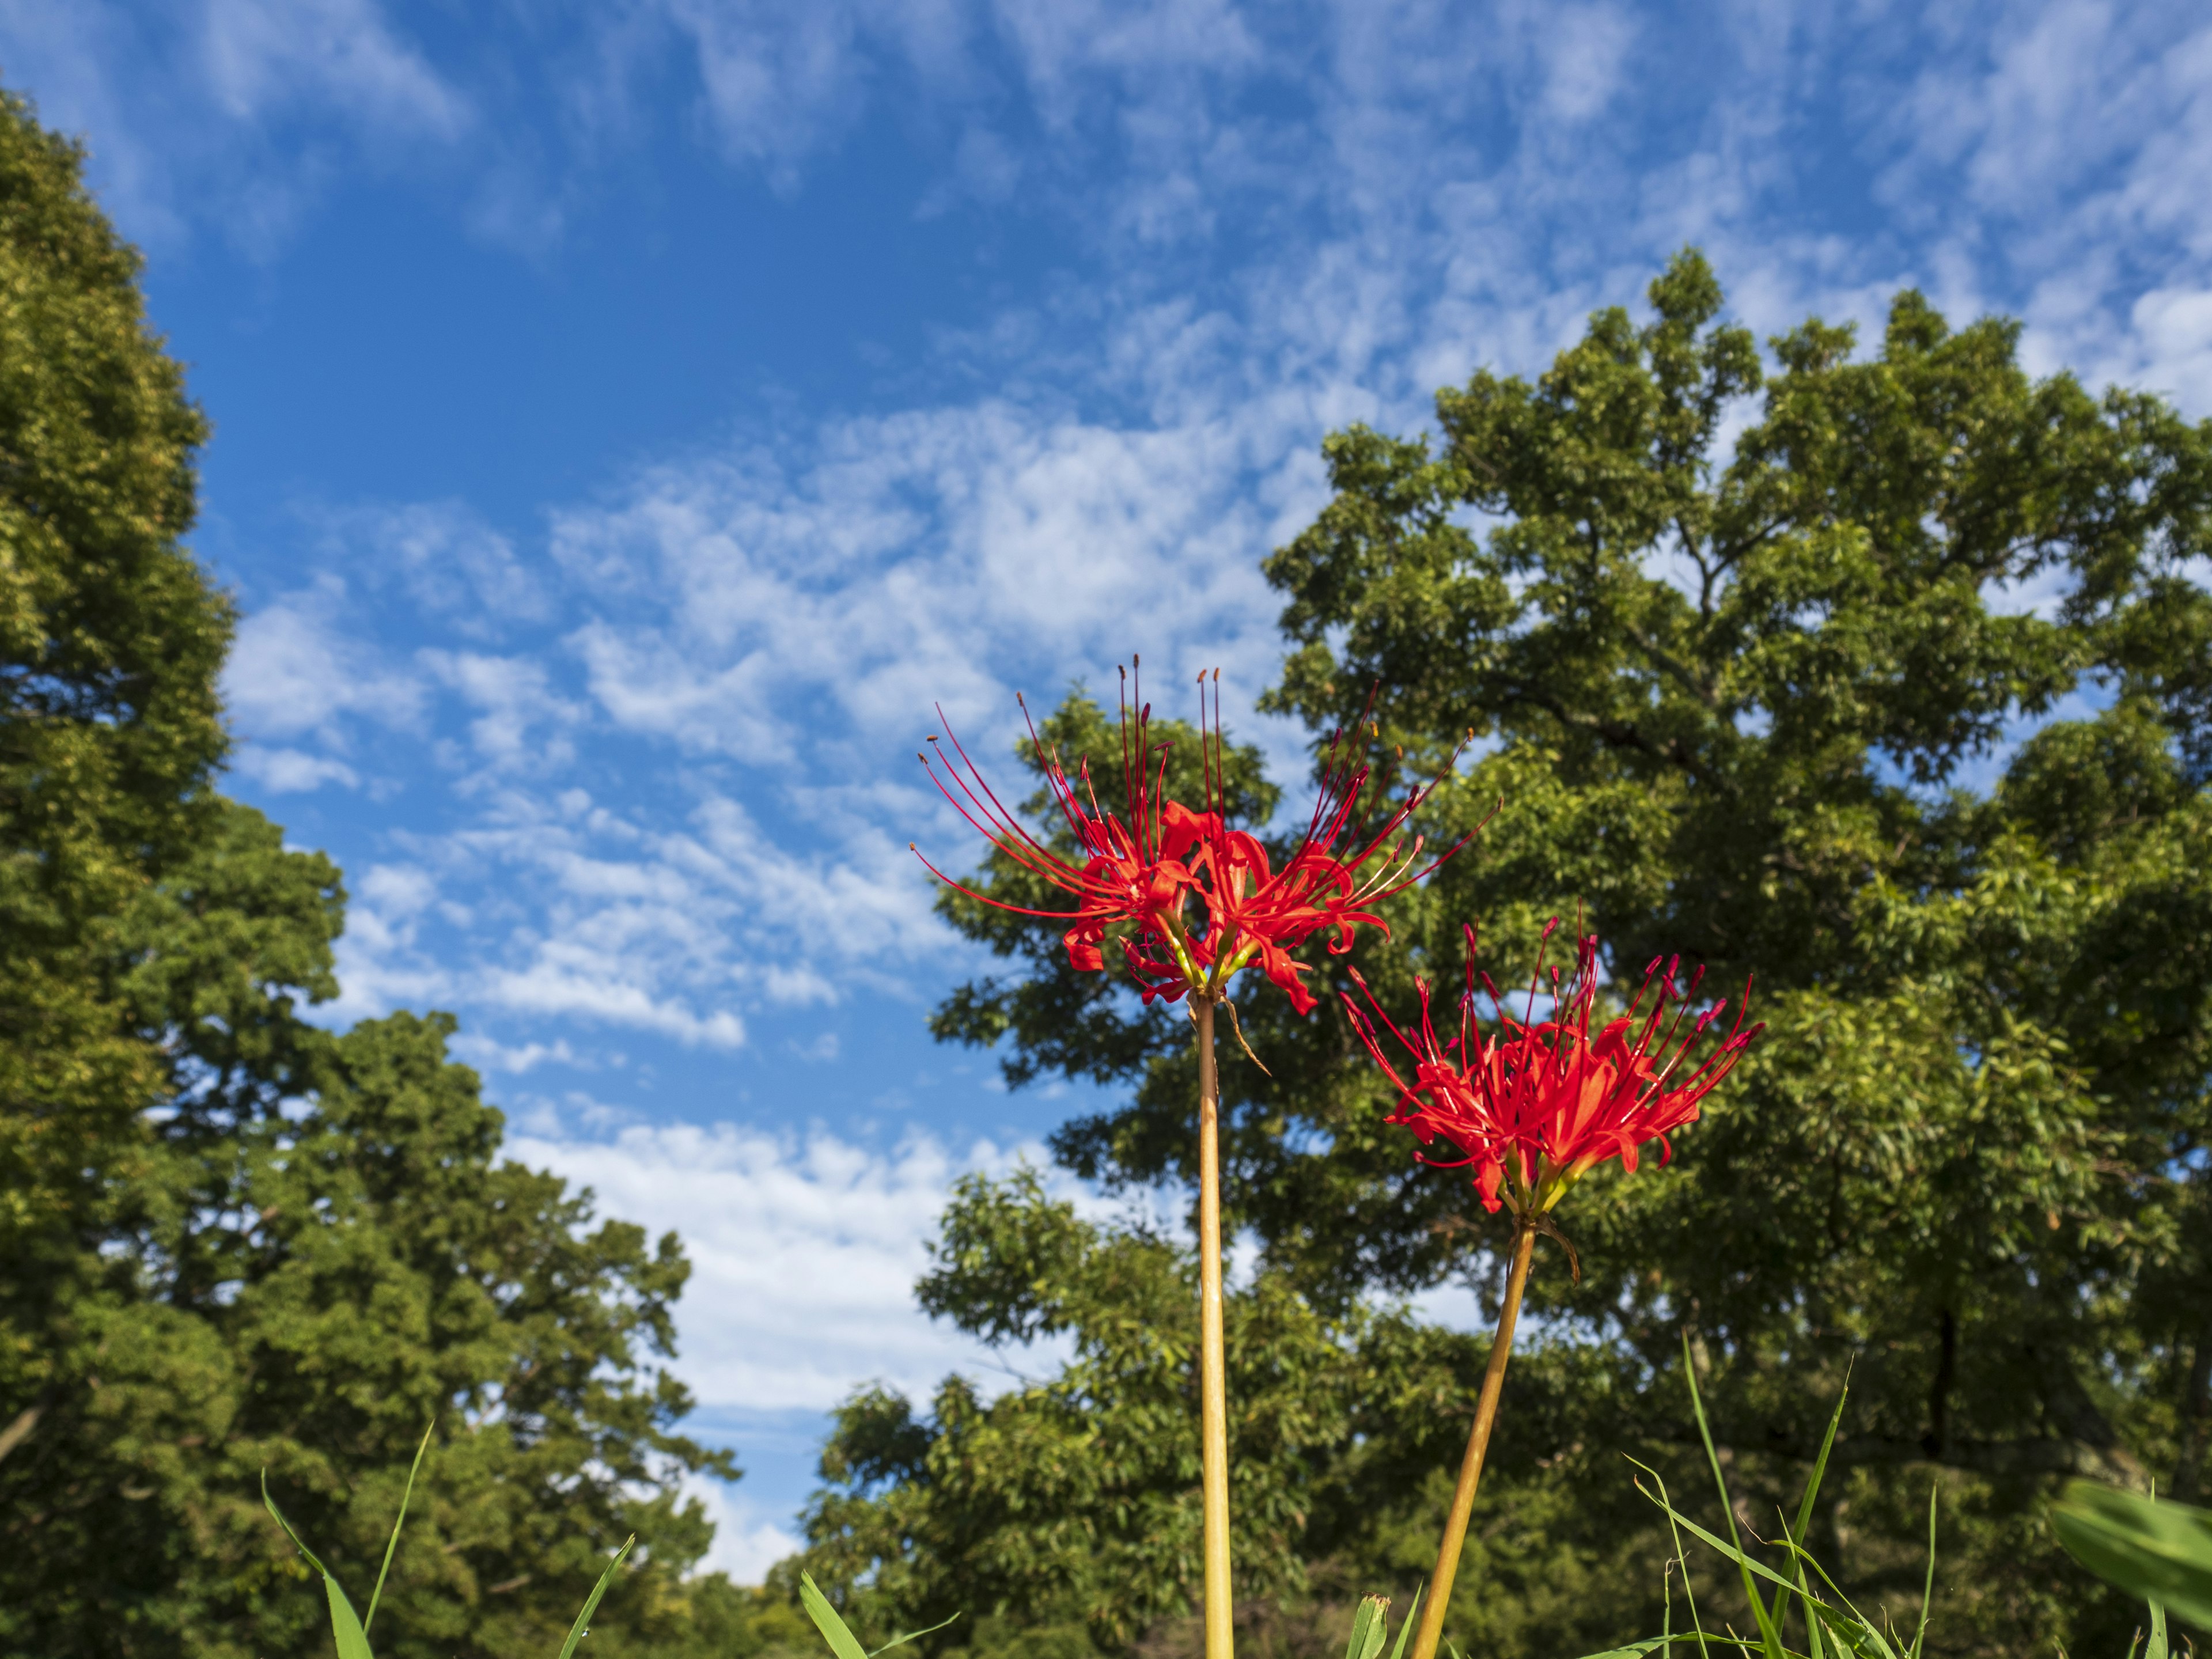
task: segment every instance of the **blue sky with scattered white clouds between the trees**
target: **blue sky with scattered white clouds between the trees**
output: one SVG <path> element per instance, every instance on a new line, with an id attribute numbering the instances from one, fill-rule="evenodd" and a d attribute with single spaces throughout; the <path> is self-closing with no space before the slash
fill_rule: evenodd
<path id="1" fill-rule="evenodd" d="M 989 1365 L 922 1241 L 1079 1106 L 922 1031 L 933 701 L 1000 750 L 1141 650 L 1234 721 L 1321 436 L 1690 241 L 1761 332 L 1918 283 L 2212 411 L 2177 4 L 0 0 L 0 77 L 215 418 L 230 787 L 347 872 L 341 1015 L 458 1011 L 692 1243 L 745 1575 L 856 1380 Z"/>

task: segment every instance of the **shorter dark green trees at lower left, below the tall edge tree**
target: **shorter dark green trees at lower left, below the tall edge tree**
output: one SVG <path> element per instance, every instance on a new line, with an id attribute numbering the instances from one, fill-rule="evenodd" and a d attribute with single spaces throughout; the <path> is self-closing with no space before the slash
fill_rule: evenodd
<path id="1" fill-rule="evenodd" d="M 378 1652 L 557 1646 L 606 1548 L 641 1564 L 597 1646 L 688 1650 L 723 1590 L 679 1586 L 708 1526 L 672 1433 L 686 1263 L 588 1194 L 502 1164 L 500 1113 L 445 1057 L 451 1018 L 332 1037 L 334 872 L 248 807 L 137 907 L 133 1006 L 168 1108 L 82 1221 L 46 1310 L 51 1383 L 0 1458 L 11 1650 L 316 1652 L 321 1597 L 257 1480 L 332 1571 L 374 1579 L 438 1420 Z M 701 1599 L 703 1597 L 703 1599 Z"/>

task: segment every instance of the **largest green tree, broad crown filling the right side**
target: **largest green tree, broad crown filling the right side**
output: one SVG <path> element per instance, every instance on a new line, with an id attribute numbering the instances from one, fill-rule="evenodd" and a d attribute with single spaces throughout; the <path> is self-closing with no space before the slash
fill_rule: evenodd
<path id="1" fill-rule="evenodd" d="M 1624 980 L 1677 951 L 1756 973 L 1752 1064 L 1668 1168 L 1577 1190 L 1584 1281 L 1535 1283 L 1551 1329 L 1630 1367 L 1635 1411 L 1568 1389 L 1535 1422 L 1509 1402 L 1502 1436 L 1686 1444 L 1688 1325 L 1756 1502 L 1854 1367 L 1829 1555 L 1913 1599 L 1936 1480 L 1942 1646 L 2086 1650 L 2135 1615 L 2057 1553 L 2048 1480 L 2201 1491 L 2212 1436 L 2212 431 L 2035 380 L 2013 323 L 1951 330 L 1916 292 L 1854 347 L 1814 319 L 1761 354 L 1692 252 L 1646 321 L 1599 312 L 1544 376 L 1442 392 L 1433 438 L 1334 434 L 1334 500 L 1267 562 L 1292 646 L 1267 706 L 1325 734 L 1378 688 L 1356 737 L 1409 768 L 1478 737 L 1427 827 L 1504 805 L 1363 942 L 1387 1004 L 1458 982 L 1462 918 L 1500 980 L 1555 914 Z M 1188 1179 L 1177 1020 L 1073 975 L 1051 925 L 947 914 L 1020 971 L 956 993 L 940 1035 L 1009 1042 L 1013 1082 L 1128 1082 L 1055 1152 Z M 1489 1285 L 1493 1234 L 1380 1121 L 1343 1015 L 1254 1000 L 1245 1026 L 1272 1077 L 1225 1068 L 1230 1208 L 1270 1267 L 1332 1316 Z M 1646 1526 L 1595 1502 L 1568 1531 L 1610 1553 Z"/>

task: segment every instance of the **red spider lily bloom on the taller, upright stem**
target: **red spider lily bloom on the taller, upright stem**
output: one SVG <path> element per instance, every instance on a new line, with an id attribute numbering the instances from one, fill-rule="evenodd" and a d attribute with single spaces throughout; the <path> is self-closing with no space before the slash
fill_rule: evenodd
<path id="1" fill-rule="evenodd" d="M 1290 951 L 1318 931 L 1334 929 L 1332 953 L 1352 949 L 1358 927 L 1383 927 L 1374 907 L 1411 887 L 1473 838 L 1462 836 L 1442 856 L 1420 863 L 1422 838 L 1405 838 L 1407 818 L 1436 794 L 1451 765 L 1427 790 L 1413 790 L 1378 827 L 1369 825 L 1380 785 L 1369 790 L 1371 768 L 1332 737 L 1323 763 L 1321 799 L 1296 849 L 1274 869 L 1267 847 L 1243 830 L 1228 827 L 1228 785 L 1221 763 L 1221 670 L 1214 670 L 1212 726 L 1206 723 L 1206 675 L 1199 677 L 1201 763 L 1206 805 L 1192 812 L 1166 794 L 1168 745 L 1150 741 L 1152 706 L 1124 672 L 1121 692 L 1121 814 L 1104 812 L 1091 781 L 1091 761 L 1071 781 L 1060 757 L 1044 748 L 1031 721 L 1029 739 L 1068 836 L 1079 849 L 1066 858 L 1033 836 L 991 792 L 975 761 L 947 726 L 958 763 L 942 752 L 942 772 L 922 754 L 931 781 L 947 801 L 980 830 L 993 847 L 1022 869 L 1042 876 L 1075 898 L 1073 911 L 1029 909 L 953 880 L 927 858 L 938 880 L 969 898 L 1020 916 L 1051 916 L 1071 922 L 1064 942 L 1068 962 L 1084 971 L 1106 964 L 1106 929 L 1128 925 L 1121 953 L 1144 1000 L 1175 1002 L 1190 991 L 1219 995 L 1234 973 L 1259 964 L 1298 1013 L 1314 1006 L 1301 975 L 1305 964 Z M 1022 703 L 1024 717 L 1029 706 Z M 945 710 L 938 710 L 942 719 Z M 929 739 L 936 743 L 938 739 Z M 1458 761 L 1458 754 L 1453 754 Z M 1345 841 L 1349 849 L 1336 854 Z"/>

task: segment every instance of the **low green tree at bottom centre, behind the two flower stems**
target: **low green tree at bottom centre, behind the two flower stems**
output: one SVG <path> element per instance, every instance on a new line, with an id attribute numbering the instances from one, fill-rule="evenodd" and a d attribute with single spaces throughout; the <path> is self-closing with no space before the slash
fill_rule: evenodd
<path id="1" fill-rule="evenodd" d="M 975 1659 L 1040 1644 L 1079 1659 L 1139 1637 L 1194 1652 L 1192 1252 L 1146 1225 L 1084 1221 L 1020 1172 L 969 1177 L 933 1256 L 925 1310 L 993 1345 L 1062 1340 L 1071 1358 L 989 1402 L 947 1378 L 927 1416 L 883 1387 L 856 1394 L 823 1453 L 807 1551 L 779 1579 L 805 1566 L 843 1586 L 847 1617 L 876 1641 L 964 1615 L 938 1641 Z M 1402 1310 L 1325 1314 L 1283 1272 L 1232 1290 L 1225 1312 L 1243 1646 L 1318 1652 L 1343 1641 L 1358 1593 L 1396 1582 L 1405 1597 L 1433 1557 L 1425 1522 L 1449 1493 L 1486 1345 Z M 1577 1345 L 1537 1343 L 1517 1367 L 1513 1409 L 1528 1418 L 1630 1391 L 1615 1360 Z M 1593 1588 L 1626 1573 L 1657 1597 L 1657 1540 L 1632 1562 L 1599 1562 L 1577 1515 L 1590 1498 L 1621 1509 L 1619 1491 L 1584 1491 L 1599 1458 L 1540 1464 L 1528 1440 L 1500 1453 L 1515 1498 L 1475 1557 L 1513 1593 L 1469 1635 L 1509 1650 L 1604 1646 L 1624 1597 Z"/>

